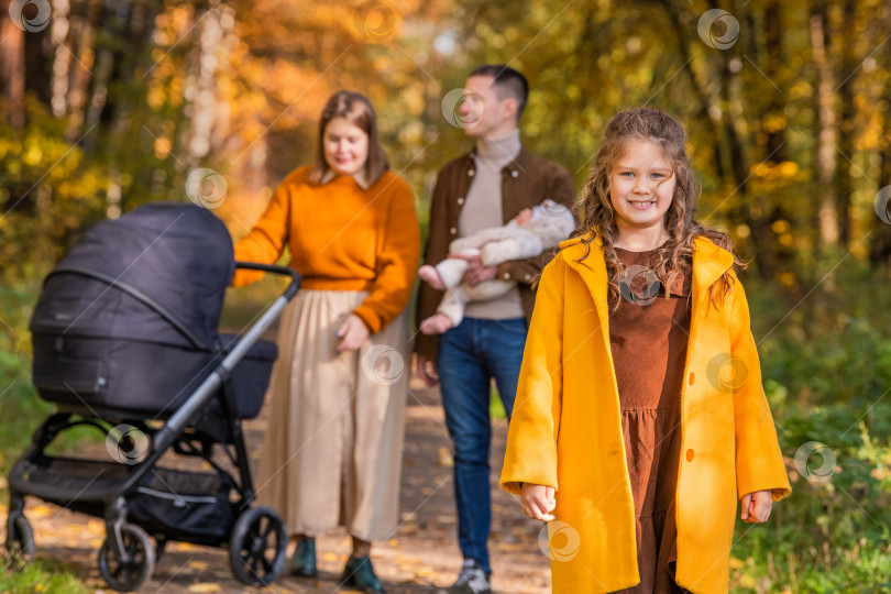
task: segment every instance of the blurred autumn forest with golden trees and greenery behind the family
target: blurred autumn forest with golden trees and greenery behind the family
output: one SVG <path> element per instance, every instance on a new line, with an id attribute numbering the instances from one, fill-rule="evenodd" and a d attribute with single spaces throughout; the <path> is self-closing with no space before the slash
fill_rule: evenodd
<path id="1" fill-rule="evenodd" d="M 793 495 L 738 527 L 735 591 L 891 592 L 891 2 L 0 0 L 0 35 L 3 472 L 47 409 L 30 311 L 81 230 L 193 199 L 241 235 L 341 88 L 376 107 L 426 224 L 471 146 L 449 91 L 507 63 L 532 87 L 524 142 L 579 187 L 609 116 L 680 118 L 700 216 L 752 258 Z"/>

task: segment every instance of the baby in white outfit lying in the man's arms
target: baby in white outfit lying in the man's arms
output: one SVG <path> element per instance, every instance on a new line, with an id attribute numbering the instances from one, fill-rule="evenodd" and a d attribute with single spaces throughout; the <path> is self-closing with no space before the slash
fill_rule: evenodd
<path id="1" fill-rule="evenodd" d="M 575 229 L 575 218 L 569 208 L 553 200 L 544 200 L 526 208 L 504 227 L 491 227 L 449 244 L 451 255 L 480 255 L 483 266 L 496 266 L 510 260 L 540 255 L 569 238 Z M 454 328 L 464 318 L 469 301 L 486 301 L 501 297 L 516 280 L 494 278 L 477 285 L 461 284 L 468 261 L 447 257 L 436 266 L 425 265 L 418 271 L 421 279 L 435 289 L 446 289 L 437 312 L 420 322 L 425 334 L 441 334 Z"/>

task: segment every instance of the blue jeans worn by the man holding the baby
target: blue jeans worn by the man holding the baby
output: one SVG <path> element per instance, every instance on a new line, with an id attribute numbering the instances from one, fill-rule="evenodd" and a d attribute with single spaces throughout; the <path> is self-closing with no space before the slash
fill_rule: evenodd
<path id="1" fill-rule="evenodd" d="M 439 342 L 437 370 L 442 407 L 454 444 L 458 542 L 464 559 L 476 560 L 486 572 L 492 571 L 486 547 L 492 524 L 490 386 L 494 377 L 509 418 L 525 344 L 524 318 L 464 318 Z"/>

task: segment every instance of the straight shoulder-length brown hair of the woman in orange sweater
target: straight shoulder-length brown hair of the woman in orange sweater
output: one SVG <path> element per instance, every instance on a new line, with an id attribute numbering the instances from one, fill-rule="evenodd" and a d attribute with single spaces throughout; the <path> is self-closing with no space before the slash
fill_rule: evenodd
<path id="1" fill-rule="evenodd" d="M 319 144 L 317 147 L 316 165 L 309 174 L 309 182 L 321 184 L 331 169 L 324 161 L 324 129 L 334 118 L 343 118 L 369 135 L 369 157 L 365 160 L 365 178 L 369 186 L 381 179 L 384 172 L 389 169 L 389 160 L 381 146 L 381 135 L 377 132 L 377 117 L 371 101 L 364 95 L 353 91 L 338 91 L 328 100 L 322 109 L 319 121 Z"/>

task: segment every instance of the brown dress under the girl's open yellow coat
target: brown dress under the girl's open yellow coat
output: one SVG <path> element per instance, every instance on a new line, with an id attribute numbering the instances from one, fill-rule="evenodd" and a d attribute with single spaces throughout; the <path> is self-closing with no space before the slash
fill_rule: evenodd
<path id="1" fill-rule="evenodd" d="M 622 432 L 637 513 L 640 583 L 624 594 L 686 592 L 674 583 L 674 497 L 681 452 L 681 384 L 690 332 L 690 282 L 679 278 L 669 296 L 654 275 L 653 251 L 616 249 L 626 273 L 623 296 L 609 316 Z M 630 266 L 636 268 L 628 270 Z"/>

